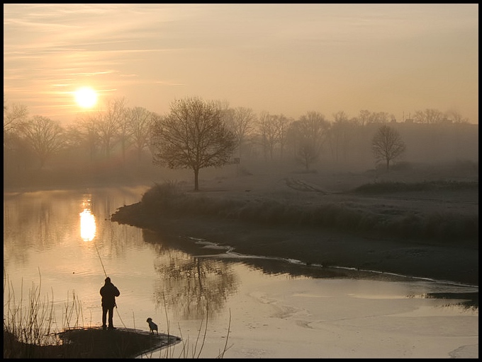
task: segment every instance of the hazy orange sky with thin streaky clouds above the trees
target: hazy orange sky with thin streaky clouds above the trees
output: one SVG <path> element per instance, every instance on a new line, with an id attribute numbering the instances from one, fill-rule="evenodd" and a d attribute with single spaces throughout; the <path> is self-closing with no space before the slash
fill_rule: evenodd
<path id="1" fill-rule="evenodd" d="M 4 95 L 72 122 L 73 92 L 298 118 L 456 110 L 478 123 L 478 4 L 4 4 Z"/>

